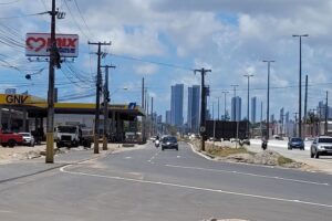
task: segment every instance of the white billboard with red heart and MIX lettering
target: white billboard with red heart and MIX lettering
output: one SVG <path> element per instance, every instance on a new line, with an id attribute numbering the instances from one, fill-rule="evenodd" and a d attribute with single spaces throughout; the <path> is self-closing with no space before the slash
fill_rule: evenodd
<path id="1" fill-rule="evenodd" d="M 62 57 L 76 57 L 79 55 L 77 34 L 56 34 L 56 46 Z M 51 34 L 27 33 L 27 56 L 50 56 Z"/>

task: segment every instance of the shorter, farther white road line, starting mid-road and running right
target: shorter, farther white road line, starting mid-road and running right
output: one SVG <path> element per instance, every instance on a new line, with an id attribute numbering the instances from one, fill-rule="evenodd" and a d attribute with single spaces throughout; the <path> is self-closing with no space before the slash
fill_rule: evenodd
<path id="1" fill-rule="evenodd" d="M 313 182 L 313 181 L 309 181 L 309 180 L 289 179 L 289 178 L 283 178 L 283 177 L 271 177 L 271 176 L 257 175 L 257 173 L 250 173 L 250 172 L 239 172 L 239 171 L 230 171 L 230 170 L 222 170 L 222 169 L 208 169 L 208 168 L 201 168 L 201 167 L 185 167 L 185 166 L 178 166 L 178 165 L 165 165 L 165 166 L 174 167 L 174 168 L 183 168 L 183 169 L 205 170 L 205 171 L 212 171 L 212 172 L 237 173 L 237 175 L 261 177 L 261 178 L 268 178 L 268 179 L 278 179 L 278 180 L 301 182 L 301 183 L 309 183 L 309 185 L 330 186 L 330 183 L 326 183 L 326 182 Z"/>

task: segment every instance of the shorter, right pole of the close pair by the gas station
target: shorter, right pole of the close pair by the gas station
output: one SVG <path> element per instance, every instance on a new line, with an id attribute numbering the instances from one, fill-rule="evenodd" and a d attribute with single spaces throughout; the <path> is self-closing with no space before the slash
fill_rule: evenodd
<path id="1" fill-rule="evenodd" d="M 108 138 L 108 103 L 111 102 L 108 90 L 108 69 L 115 69 L 113 65 L 104 65 L 105 67 L 105 84 L 104 84 L 104 133 L 103 133 L 103 150 L 107 150 Z"/>

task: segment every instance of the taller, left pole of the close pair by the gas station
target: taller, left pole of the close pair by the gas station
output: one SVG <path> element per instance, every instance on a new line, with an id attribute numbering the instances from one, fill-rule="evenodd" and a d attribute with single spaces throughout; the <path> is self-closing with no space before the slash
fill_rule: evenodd
<path id="1" fill-rule="evenodd" d="M 102 42 L 87 42 L 87 44 L 98 45 L 97 55 L 97 77 L 96 77 L 96 96 L 95 96 L 95 118 L 94 118 L 94 154 L 100 154 L 100 103 L 101 103 L 101 87 L 102 87 L 102 73 L 101 73 L 101 48 L 102 45 L 111 45 L 110 43 Z"/>

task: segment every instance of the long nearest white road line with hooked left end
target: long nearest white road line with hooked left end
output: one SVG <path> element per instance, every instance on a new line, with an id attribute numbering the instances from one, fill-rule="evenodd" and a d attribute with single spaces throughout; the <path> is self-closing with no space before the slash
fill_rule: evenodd
<path id="1" fill-rule="evenodd" d="M 281 202 L 291 202 L 291 203 L 299 203 L 299 204 L 309 204 L 309 206 L 317 206 L 323 208 L 332 208 L 332 204 L 324 204 L 318 202 L 309 202 L 309 201 L 301 201 L 301 200 L 293 200 L 293 199 L 283 199 L 283 198 L 276 198 L 276 197 L 267 197 L 260 194 L 250 194 L 250 193 L 242 193 L 242 192 L 232 192 L 232 191 L 225 191 L 218 189 L 210 189 L 210 188 L 203 188 L 203 187 L 195 187 L 195 186 L 187 186 L 187 185 L 177 185 L 172 182 L 160 182 L 160 181 L 151 181 L 151 180 L 138 180 L 125 177 L 113 177 L 113 176 L 103 176 L 103 175 L 95 175 L 95 173 L 87 173 L 87 172 L 75 172 L 65 170 L 65 168 L 71 167 L 71 165 L 66 165 L 60 168 L 60 171 L 70 173 L 70 175 L 77 175 L 77 176 L 86 176 L 86 177 L 97 177 L 97 178 L 105 178 L 105 179 L 113 179 L 113 180 L 122 180 L 122 181 L 129 181 L 129 182 L 139 182 L 139 183 L 147 183 L 147 185 L 158 185 L 158 186 L 168 186 L 168 187 L 176 187 L 176 188 L 184 188 L 184 189 L 191 189 L 191 190 L 200 190 L 200 191 L 208 191 L 208 192 L 217 192 L 221 194 L 234 194 L 247 198 L 256 198 L 256 199 L 263 199 L 263 200 L 273 200 L 273 201 L 281 201 Z"/>

